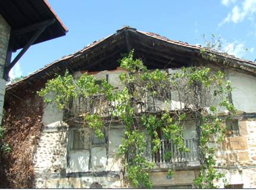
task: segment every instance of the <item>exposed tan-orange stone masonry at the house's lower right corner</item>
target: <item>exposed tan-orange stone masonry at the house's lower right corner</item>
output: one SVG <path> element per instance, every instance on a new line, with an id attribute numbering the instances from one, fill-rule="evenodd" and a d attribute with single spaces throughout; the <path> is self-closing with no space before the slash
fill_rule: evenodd
<path id="1" fill-rule="evenodd" d="M 256 118 L 241 119 L 238 124 L 239 134 L 227 136 L 217 152 L 217 168 L 229 184 L 256 188 Z"/>

